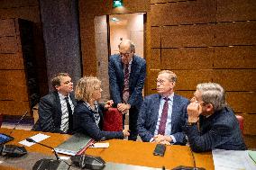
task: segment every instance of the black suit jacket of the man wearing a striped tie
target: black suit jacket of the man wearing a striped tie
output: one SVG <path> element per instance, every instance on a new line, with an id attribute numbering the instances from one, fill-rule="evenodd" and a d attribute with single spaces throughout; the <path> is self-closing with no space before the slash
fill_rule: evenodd
<path id="1" fill-rule="evenodd" d="M 76 105 L 74 94 L 69 96 L 72 103 Z M 41 98 L 38 113 L 39 119 L 32 130 L 63 133 L 60 130 L 62 112 L 58 92 L 51 92 Z"/>

